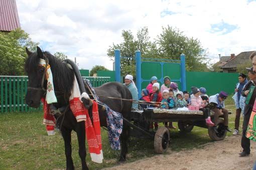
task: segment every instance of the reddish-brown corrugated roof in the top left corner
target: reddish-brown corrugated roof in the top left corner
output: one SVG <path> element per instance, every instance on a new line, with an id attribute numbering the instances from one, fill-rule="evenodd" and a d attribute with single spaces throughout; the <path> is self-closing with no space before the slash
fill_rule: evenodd
<path id="1" fill-rule="evenodd" d="M 0 31 L 21 27 L 15 0 L 0 0 Z"/>

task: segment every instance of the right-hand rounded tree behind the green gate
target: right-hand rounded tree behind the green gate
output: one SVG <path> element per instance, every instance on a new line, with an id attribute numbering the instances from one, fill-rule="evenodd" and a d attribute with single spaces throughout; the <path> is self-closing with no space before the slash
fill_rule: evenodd
<path id="1" fill-rule="evenodd" d="M 156 40 L 161 58 L 180 59 L 186 56 L 187 71 L 209 71 L 207 68 L 207 50 L 203 49 L 198 39 L 187 37 L 178 28 L 162 27 L 163 32 Z"/>

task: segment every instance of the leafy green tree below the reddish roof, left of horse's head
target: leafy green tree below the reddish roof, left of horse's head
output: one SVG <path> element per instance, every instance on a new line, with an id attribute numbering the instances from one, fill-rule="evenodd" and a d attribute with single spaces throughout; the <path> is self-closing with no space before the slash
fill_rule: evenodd
<path id="1" fill-rule="evenodd" d="M 25 47 L 35 51 L 38 44 L 19 28 L 10 33 L 0 32 L 0 75 L 24 75 Z"/>

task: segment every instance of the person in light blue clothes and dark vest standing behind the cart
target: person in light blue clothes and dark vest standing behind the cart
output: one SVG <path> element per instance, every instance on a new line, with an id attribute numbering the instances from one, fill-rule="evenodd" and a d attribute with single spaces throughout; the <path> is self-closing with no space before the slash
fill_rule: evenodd
<path id="1" fill-rule="evenodd" d="M 245 105 L 245 97 L 241 95 L 242 89 L 244 85 L 247 83 L 246 75 L 243 73 L 240 73 L 238 75 L 238 83 L 235 86 L 235 93 L 233 95 L 233 99 L 235 102 L 236 107 L 236 113 L 235 113 L 235 127 L 233 135 L 237 135 L 239 132 L 239 121 L 240 121 L 240 114 L 244 110 Z"/>

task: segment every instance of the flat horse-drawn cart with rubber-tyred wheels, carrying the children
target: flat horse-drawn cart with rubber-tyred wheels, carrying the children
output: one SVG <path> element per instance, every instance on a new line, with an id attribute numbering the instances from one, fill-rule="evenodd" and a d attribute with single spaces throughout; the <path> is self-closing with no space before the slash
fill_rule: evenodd
<path id="1" fill-rule="evenodd" d="M 132 122 L 124 119 L 129 124 L 131 136 L 154 140 L 154 148 L 157 153 L 164 153 L 169 146 L 170 132 L 167 127 L 159 127 L 157 131 L 150 131 L 152 122 L 178 122 L 182 132 L 190 132 L 194 126 L 208 128 L 209 137 L 212 140 L 223 140 L 226 130 L 223 118 L 220 116 L 216 121 L 216 127 L 207 126 L 200 110 L 174 110 L 174 109 L 145 109 L 132 111 Z M 211 117 L 213 120 L 213 117 Z M 215 128 L 215 129 L 214 129 Z"/>

